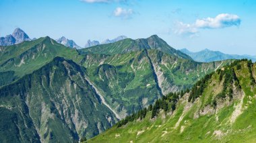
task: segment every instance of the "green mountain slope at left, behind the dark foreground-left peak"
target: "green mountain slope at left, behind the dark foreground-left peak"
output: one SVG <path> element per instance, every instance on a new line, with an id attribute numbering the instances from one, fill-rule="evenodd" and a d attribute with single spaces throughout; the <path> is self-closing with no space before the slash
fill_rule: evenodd
<path id="1" fill-rule="evenodd" d="M 75 49 L 67 48 L 45 37 L 12 46 L 0 46 L 0 72 L 15 72 L 13 75 L 15 80 L 32 73 L 57 56 L 74 62 L 82 59 Z M 1 83 L 1 85 L 4 84 Z"/>

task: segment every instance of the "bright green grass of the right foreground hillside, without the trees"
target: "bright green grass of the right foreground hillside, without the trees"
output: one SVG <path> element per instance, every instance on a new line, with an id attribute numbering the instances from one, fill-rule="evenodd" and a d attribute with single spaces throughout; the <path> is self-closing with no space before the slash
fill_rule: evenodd
<path id="1" fill-rule="evenodd" d="M 214 113 L 209 112 L 195 117 L 223 90 L 223 82 L 218 80 L 218 73 L 214 73 L 212 79 L 207 82 L 208 86 L 204 89 L 203 95 L 188 110 L 185 108 L 189 103 L 183 97 L 172 115 L 166 115 L 164 111 L 160 111 L 160 115 L 155 120 L 151 120 L 151 111 L 148 111 L 145 119 L 129 122 L 121 128 L 110 128 L 88 142 L 255 142 L 256 89 L 255 85 L 251 87 L 251 80 L 247 76 L 250 72 L 247 62 L 241 61 L 240 63 L 243 66 L 241 70 L 235 68 L 235 73 L 245 92 L 245 97 L 241 115 L 233 124 L 230 122 L 230 117 L 234 113 L 235 105 L 242 100 L 241 98 L 230 101 L 226 97 L 218 101 L 218 111 L 214 110 Z M 253 71 L 255 69 L 254 64 Z M 226 105 L 226 101 L 230 103 Z M 183 119 L 175 128 L 182 115 L 184 115 Z M 183 132 L 181 132 L 182 129 Z"/>

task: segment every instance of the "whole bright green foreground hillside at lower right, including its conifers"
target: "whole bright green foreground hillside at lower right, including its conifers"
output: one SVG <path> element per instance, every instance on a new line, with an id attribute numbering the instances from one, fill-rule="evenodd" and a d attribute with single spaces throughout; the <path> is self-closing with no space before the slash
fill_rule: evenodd
<path id="1" fill-rule="evenodd" d="M 135 117 L 88 142 L 255 142 L 255 80 L 256 64 L 234 62 L 205 77 L 189 93 L 162 99 L 168 108 L 164 111 L 160 105 L 157 117 L 152 118 L 154 105 L 143 120 Z"/>

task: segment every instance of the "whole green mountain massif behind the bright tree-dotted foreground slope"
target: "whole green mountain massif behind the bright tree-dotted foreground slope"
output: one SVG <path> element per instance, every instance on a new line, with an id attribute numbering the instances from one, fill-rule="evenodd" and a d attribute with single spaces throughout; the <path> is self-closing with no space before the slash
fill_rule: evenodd
<path id="1" fill-rule="evenodd" d="M 7 115 L 0 126 L 10 128 L 1 132 L 1 140 L 92 138 L 231 62 L 194 62 L 158 36 L 113 44 L 98 45 L 108 47 L 102 54 L 95 52 L 97 46 L 95 51 L 77 50 L 49 37 L 0 46 L 0 113 Z"/>

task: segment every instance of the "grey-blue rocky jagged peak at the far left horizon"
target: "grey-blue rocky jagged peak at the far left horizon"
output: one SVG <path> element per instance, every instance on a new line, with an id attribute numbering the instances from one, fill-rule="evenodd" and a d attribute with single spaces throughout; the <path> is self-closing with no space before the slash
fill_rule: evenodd
<path id="1" fill-rule="evenodd" d="M 9 46 L 30 40 L 31 39 L 23 30 L 21 30 L 20 28 L 16 28 L 13 34 L 0 38 L 0 46 Z"/>

